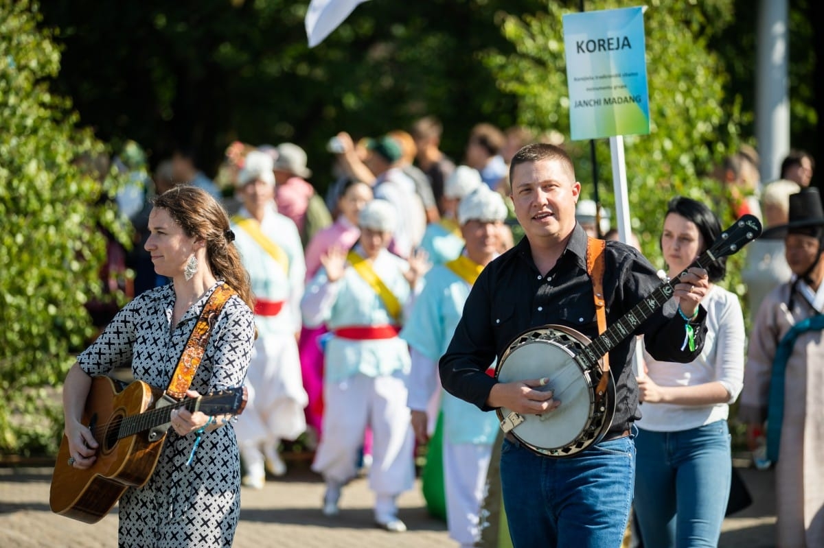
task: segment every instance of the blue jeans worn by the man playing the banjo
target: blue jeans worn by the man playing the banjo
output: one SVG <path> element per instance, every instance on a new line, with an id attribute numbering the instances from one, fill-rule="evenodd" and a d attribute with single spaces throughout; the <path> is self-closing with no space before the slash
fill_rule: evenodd
<path id="1" fill-rule="evenodd" d="M 501 484 L 513 546 L 618 548 L 634 474 L 631 437 L 601 442 L 569 458 L 541 457 L 504 440 Z"/>

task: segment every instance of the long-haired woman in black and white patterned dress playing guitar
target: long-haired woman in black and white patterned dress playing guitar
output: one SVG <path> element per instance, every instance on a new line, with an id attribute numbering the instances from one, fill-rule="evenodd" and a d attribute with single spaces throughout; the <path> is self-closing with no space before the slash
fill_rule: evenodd
<path id="1" fill-rule="evenodd" d="M 153 387 L 170 385 L 209 297 L 234 290 L 218 315 L 188 397 L 241 386 L 255 322 L 249 279 L 232 244 L 226 211 L 207 192 L 178 186 L 154 200 L 145 247 L 171 284 L 147 290 L 120 310 L 77 356 L 63 387 L 70 458 L 56 466 L 91 467 L 99 440 L 82 424 L 91 377 L 129 366 Z M 197 441 L 199 440 L 199 441 Z M 119 499 L 119 546 L 232 546 L 240 518 L 241 470 L 232 415 L 171 411 L 171 427 L 146 485 Z"/>

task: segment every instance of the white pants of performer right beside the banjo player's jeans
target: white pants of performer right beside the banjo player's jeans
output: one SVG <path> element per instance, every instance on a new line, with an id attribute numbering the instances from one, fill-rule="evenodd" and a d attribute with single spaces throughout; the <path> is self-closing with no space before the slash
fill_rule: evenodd
<path id="1" fill-rule="evenodd" d="M 443 487 L 447 495 L 449 537 L 461 546 L 480 539 L 478 514 L 484 502 L 489 444 L 452 444 L 443 439 Z"/>

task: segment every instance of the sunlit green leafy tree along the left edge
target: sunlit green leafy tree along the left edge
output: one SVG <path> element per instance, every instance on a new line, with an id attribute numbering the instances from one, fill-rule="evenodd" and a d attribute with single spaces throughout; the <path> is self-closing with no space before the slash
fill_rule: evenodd
<path id="1" fill-rule="evenodd" d="M 105 242 L 119 230 L 83 159 L 105 152 L 49 91 L 60 52 L 38 6 L 0 0 L 0 453 L 54 450 L 71 352 L 91 335 Z"/>

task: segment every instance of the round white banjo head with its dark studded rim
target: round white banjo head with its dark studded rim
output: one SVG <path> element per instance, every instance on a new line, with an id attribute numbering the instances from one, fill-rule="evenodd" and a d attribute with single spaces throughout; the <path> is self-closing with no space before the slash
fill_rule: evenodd
<path id="1" fill-rule="evenodd" d="M 552 390 L 561 404 L 541 415 L 521 415 L 511 434 L 534 453 L 570 457 L 596 444 L 615 413 L 615 384 L 610 378 L 607 393 L 598 397 L 600 366 L 585 368 L 575 360 L 589 340 L 569 327 L 545 326 L 522 333 L 510 343 L 495 370 L 499 382 L 548 378 L 544 390 Z M 512 411 L 496 410 L 506 420 Z"/>

